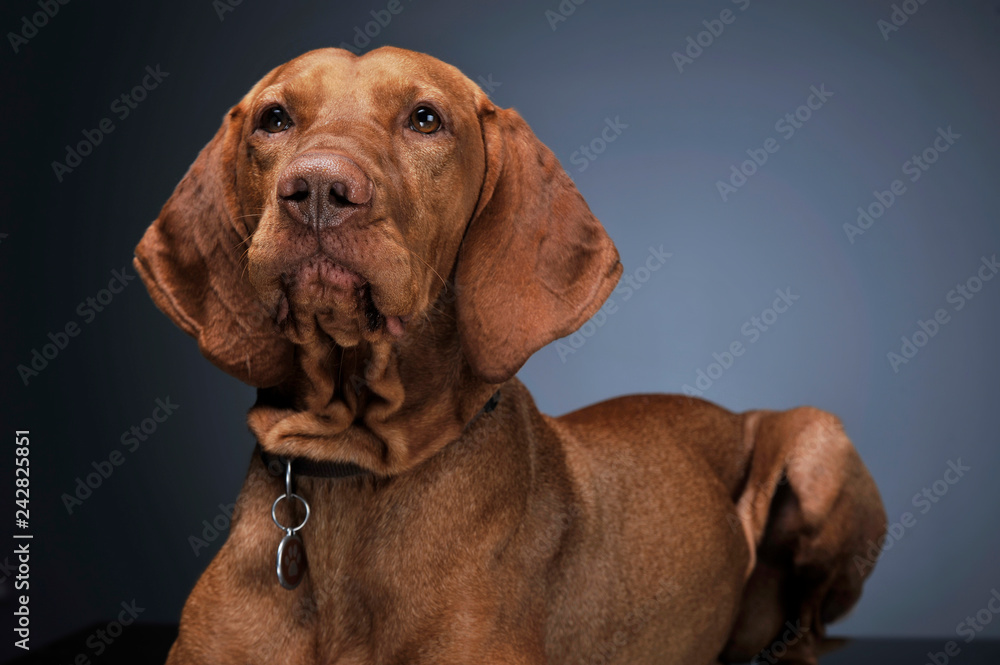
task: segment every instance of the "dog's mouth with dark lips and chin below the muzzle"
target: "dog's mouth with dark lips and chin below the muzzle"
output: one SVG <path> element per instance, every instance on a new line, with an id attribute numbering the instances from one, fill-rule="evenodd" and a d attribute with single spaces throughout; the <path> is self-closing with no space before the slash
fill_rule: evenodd
<path id="1" fill-rule="evenodd" d="M 385 314 L 372 282 L 325 254 L 310 257 L 279 280 L 274 319 L 282 330 L 311 316 L 334 339 L 344 328 L 364 336 L 384 332 L 398 338 L 406 332 L 409 316 Z"/>

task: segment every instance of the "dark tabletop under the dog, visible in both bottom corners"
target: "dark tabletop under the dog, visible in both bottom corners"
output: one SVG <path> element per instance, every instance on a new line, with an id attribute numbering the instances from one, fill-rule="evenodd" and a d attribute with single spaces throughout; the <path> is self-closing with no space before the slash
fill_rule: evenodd
<path id="1" fill-rule="evenodd" d="M 46 649 L 9 661 L 11 665 L 70 665 L 81 653 L 92 655 L 87 640 L 107 624 L 98 624 L 64 637 Z M 107 646 L 99 656 L 91 658 L 100 665 L 153 665 L 166 660 L 170 645 L 177 636 L 176 626 L 138 625 L 126 628 L 121 636 Z M 943 652 L 948 640 L 850 640 L 821 659 L 823 665 L 891 665 L 931 662 L 928 653 Z M 938 659 L 936 665 L 957 662 L 961 665 L 997 665 L 1000 663 L 1000 641 L 974 640 L 958 644 L 960 652 L 949 660 Z M 952 649 L 954 653 L 954 648 Z M 768 663 L 766 658 L 759 663 Z M 664 664 L 666 665 L 666 664 Z"/>

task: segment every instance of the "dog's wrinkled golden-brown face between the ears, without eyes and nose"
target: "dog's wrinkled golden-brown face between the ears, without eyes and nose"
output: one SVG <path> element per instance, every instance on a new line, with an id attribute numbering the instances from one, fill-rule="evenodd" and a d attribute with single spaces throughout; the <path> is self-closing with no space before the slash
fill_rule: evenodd
<path id="1" fill-rule="evenodd" d="M 300 346 L 380 341 L 391 333 L 384 324 L 369 326 L 368 296 L 356 293 L 361 283 L 370 285 L 382 317 L 408 321 L 427 311 L 451 273 L 479 197 L 468 185 L 485 172 L 477 110 L 487 102 L 457 71 L 438 67 L 445 75 L 432 75 L 413 65 L 392 52 L 358 60 L 325 51 L 276 71 L 244 101 L 246 156 L 236 187 L 244 209 L 263 211 L 249 229 L 250 282 L 272 313 L 288 309 L 287 334 Z M 374 72 L 374 85 L 351 85 Z M 274 104 L 287 108 L 294 124 L 277 133 L 256 128 Z M 421 104 L 442 109 L 440 131 L 410 128 L 410 110 Z M 288 219 L 276 205 L 277 180 L 307 152 L 349 155 L 373 184 L 368 209 L 319 232 Z M 324 278 L 317 264 L 353 275 Z"/>

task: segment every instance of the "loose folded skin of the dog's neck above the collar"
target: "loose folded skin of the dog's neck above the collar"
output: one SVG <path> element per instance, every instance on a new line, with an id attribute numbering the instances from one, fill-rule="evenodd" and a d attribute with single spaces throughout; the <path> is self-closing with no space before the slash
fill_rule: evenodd
<path id="1" fill-rule="evenodd" d="M 268 454 L 396 475 L 458 438 L 498 386 L 461 356 L 454 308 L 438 303 L 388 336 L 296 347 L 296 371 L 258 391 L 248 423 Z"/>

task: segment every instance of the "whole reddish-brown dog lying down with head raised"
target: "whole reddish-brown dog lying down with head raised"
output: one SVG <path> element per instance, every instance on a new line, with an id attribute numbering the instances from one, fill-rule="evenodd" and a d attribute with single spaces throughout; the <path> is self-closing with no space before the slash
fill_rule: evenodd
<path id="1" fill-rule="evenodd" d="M 835 417 L 538 412 L 514 374 L 622 266 L 520 116 L 429 56 L 269 73 L 135 263 L 261 389 L 250 427 L 311 506 L 286 590 L 287 467 L 254 457 L 170 663 L 815 663 L 860 595 L 885 515 Z"/>

